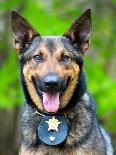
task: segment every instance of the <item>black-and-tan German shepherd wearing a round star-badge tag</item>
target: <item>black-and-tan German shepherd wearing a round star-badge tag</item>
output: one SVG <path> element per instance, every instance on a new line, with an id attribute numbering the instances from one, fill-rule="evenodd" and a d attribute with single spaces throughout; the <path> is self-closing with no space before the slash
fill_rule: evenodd
<path id="1" fill-rule="evenodd" d="M 113 155 L 83 72 L 91 10 L 62 36 L 41 36 L 15 11 L 11 27 L 25 95 L 19 154 Z"/>

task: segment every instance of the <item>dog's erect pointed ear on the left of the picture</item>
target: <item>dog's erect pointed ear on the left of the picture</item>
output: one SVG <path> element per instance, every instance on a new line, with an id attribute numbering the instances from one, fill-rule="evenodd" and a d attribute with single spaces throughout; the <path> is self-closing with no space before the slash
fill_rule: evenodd
<path id="1" fill-rule="evenodd" d="M 11 29 L 14 37 L 14 48 L 19 55 L 25 48 L 26 44 L 30 44 L 34 37 L 40 36 L 27 20 L 15 11 L 12 11 Z"/>

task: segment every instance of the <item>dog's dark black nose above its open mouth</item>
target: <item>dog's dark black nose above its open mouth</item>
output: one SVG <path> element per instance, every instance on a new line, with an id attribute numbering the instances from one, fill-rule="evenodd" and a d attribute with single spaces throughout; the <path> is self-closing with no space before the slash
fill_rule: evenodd
<path id="1" fill-rule="evenodd" d="M 57 91 L 60 87 L 60 78 L 56 73 L 48 73 L 43 78 L 43 84 L 46 90 Z"/>

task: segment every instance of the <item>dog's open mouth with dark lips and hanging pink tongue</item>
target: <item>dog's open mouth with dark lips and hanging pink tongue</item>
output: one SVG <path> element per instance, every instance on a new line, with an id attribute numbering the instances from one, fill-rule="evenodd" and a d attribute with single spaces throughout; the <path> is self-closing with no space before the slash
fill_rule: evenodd
<path id="1" fill-rule="evenodd" d="M 69 79 L 64 82 L 64 85 L 62 86 L 62 91 L 42 91 L 39 87 L 38 83 L 41 83 L 40 81 L 36 81 L 35 78 L 32 77 L 32 81 L 34 83 L 34 86 L 36 88 L 37 94 L 42 100 L 43 107 L 47 113 L 56 113 L 60 108 L 60 97 L 65 92 L 67 85 L 69 83 Z"/>

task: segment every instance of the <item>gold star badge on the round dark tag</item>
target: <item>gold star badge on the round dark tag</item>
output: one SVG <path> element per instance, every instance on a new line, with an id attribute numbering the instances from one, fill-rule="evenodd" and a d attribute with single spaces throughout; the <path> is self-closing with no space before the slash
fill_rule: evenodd
<path id="1" fill-rule="evenodd" d="M 58 132 L 58 125 L 62 123 L 58 119 L 56 119 L 55 116 L 53 116 L 51 119 L 45 122 L 48 124 L 49 127 L 48 131 L 56 130 L 57 132 Z"/>

